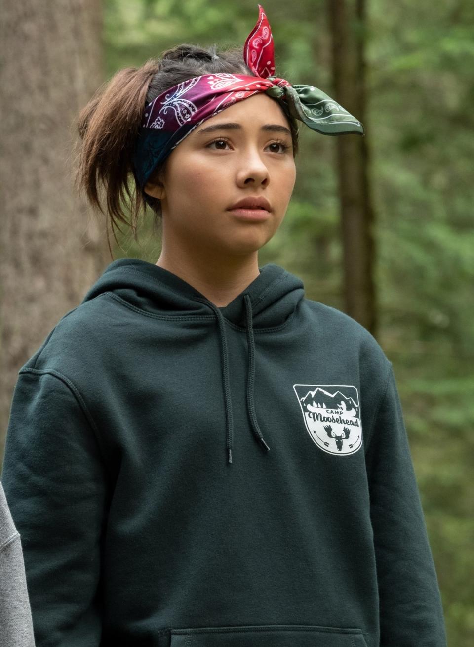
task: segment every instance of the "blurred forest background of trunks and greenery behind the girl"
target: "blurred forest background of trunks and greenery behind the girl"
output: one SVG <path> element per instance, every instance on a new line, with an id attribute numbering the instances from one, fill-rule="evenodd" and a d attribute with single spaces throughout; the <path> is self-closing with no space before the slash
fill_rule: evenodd
<path id="1" fill-rule="evenodd" d="M 100 219 L 91 219 L 68 180 L 78 111 L 118 69 L 138 67 L 176 43 L 243 45 L 258 16 L 253 0 L 74 0 L 52 3 L 54 11 L 32 0 L 1 2 L 0 463 L 17 371 L 111 262 L 103 228 L 94 224 Z M 358 318 L 393 363 L 448 643 L 468 647 L 474 636 L 474 3 L 267 0 L 263 6 L 277 76 L 336 98 L 361 119 L 366 136 L 352 168 L 347 144 L 339 142 L 344 137 L 301 125 L 292 200 L 259 252 L 259 266 L 277 263 L 300 276 L 308 298 Z M 357 48 L 351 57 L 349 47 L 345 77 L 334 65 L 338 27 L 358 34 L 363 47 L 363 60 Z M 364 80 L 363 95 L 346 87 L 354 74 Z M 345 193 L 352 175 L 363 178 L 363 195 Z M 361 229 L 350 221 L 351 200 L 359 201 Z M 364 247 L 367 236 L 371 244 Z M 140 241 L 126 228 L 118 241 L 114 258 L 155 263 L 160 255 L 150 213 Z M 357 276 L 351 264 L 363 266 L 359 285 L 351 282 Z"/>

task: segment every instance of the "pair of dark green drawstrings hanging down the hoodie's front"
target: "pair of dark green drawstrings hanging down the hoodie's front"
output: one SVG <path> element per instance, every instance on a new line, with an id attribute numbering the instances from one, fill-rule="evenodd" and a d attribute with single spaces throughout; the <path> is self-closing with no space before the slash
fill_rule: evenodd
<path id="1" fill-rule="evenodd" d="M 221 347 L 222 347 L 222 382 L 224 386 L 224 401 L 226 405 L 226 453 L 228 463 L 232 463 L 232 448 L 233 448 L 233 419 L 232 419 L 232 406 L 230 399 L 230 383 L 229 383 L 229 358 L 227 350 L 226 338 L 226 324 L 221 311 L 214 303 L 202 299 L 199 296 L 195 300 L 205 303 L 217 315 L 217 322 L 219 323 L 219 332 L 221 333 Z M 255 405 L 253 404 L 253 385 L 255 383 L 255 342 L 253 339 L 253 316 L 252 316 L 252 302 L 250 296 L 244 294 L 246 305 L 246 331 L 247 331 L 247 348 L 248 348 L 248 373 L 247 373 L 247 412 L 252 426 L 252 432 L 255 438 L 267 450 L 270 447 L 263 439 L 262 432 L 257 422 L 257 415 L 255 414 Z"/>

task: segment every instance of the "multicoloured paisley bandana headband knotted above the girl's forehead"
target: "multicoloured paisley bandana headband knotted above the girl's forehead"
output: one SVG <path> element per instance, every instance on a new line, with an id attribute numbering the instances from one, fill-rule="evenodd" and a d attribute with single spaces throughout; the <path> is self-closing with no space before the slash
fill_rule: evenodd
<path id="1" fill-rule="evenodd" d="M 162 162 L 195 127 L 230 105 L 264 92 L 275 98 L 286 115 L 322 135 L 364 135 L 360 121 L 334 99 L 312 85 L 291 85 L 272 76 L 274 42 L 261 5 L 259 19 L 244 45 L 244 61 L 255 76 L 215 73 L 195 76 L 166 90 L 144 109 L 133 151 L 133 168 L 143 189 Z M 213 58 L 219 58 L 216 54 Z"/>

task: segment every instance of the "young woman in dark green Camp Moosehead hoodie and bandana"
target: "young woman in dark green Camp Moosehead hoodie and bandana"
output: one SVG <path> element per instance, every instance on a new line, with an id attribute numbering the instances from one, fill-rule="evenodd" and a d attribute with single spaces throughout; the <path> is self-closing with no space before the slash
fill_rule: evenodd
<path id="1" fill-rule="evenodd" d="M 242 56 L 243 54 L 243 56 Z M 391 362 L 258 250 L 296 177 L 296 120 L 363 133 L 243 52 L 182 45 L 80 118 L 80 179 L 155 264 L 113 261 L 21 367 L 3 484 L 38 646 L 445 647 Z"/>

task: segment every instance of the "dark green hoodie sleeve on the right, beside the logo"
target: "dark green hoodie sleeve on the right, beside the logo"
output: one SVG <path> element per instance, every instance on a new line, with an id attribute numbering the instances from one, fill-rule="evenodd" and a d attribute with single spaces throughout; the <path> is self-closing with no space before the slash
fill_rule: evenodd
<path id="1" fill-rule="evenodd" d="M 389 362 L 367 450 L 380 647 L 446 647 L 435 564 Z"/>

